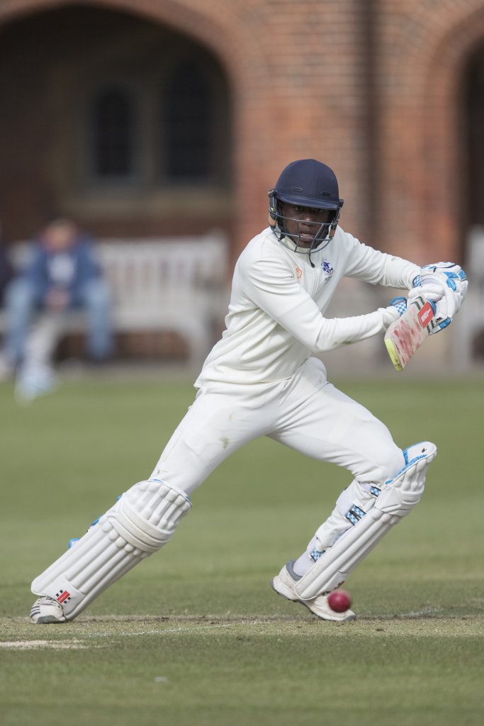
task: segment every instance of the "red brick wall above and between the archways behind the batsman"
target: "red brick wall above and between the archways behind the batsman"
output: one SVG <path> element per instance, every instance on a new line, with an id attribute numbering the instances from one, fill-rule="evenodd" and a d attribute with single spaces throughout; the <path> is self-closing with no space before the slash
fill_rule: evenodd
<path id="1" fill-rule="evenodd" d="M 0 23 L 70 4 L 5 0 Z M 484 43 L 483 0 L 138 0 L 136 11 L 226 68 L 234 252 L 266 224 L 281 168 L 316 157 L 337 172 L 345 229 L 416 261 L 462 258 L 459 89 Z"/>

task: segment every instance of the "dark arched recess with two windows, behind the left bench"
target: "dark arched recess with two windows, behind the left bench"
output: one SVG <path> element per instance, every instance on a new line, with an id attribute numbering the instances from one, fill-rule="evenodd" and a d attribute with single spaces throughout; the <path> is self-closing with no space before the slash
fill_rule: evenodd
<path id="1" fill-rule="evenodd" d="M 99 236 L 229 229 L 231 91 L 193 38 L 105 7 L 0 28 L 0 216 L 10 240 L 52 213 Z"/>

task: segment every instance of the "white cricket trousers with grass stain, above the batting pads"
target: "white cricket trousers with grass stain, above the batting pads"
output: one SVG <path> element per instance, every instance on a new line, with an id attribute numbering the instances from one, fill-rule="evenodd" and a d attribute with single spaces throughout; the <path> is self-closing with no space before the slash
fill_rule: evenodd
<path id="1" fill-rule="evenodd" d="M 387 427 L 328 383 L 324 364 L 309 358 L 276 383 L 200 388 L 152 477 L 192 494 L 223 460 L 258 436 L 344 467 L 362 484 L 382 484 L 405 465 Z"/>

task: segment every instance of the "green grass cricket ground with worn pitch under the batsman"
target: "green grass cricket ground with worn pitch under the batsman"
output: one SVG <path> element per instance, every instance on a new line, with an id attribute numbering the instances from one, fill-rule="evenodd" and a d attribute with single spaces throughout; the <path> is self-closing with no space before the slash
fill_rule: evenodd
<path id="1" fill-rule="evenodd" d="M 98 377 L 29 407 L 0 386 L 3 726 L 477 726 L 484 722 L 484 380 L 335 381 L 401 446 L 435 441 L 416 510 L 350 576 L 358 620 L 268 581 L 348 484 L 261 439 L 224 462 L 153 555 L 63 626 L 30 581 L 149 476 L 190 383 Z"/>

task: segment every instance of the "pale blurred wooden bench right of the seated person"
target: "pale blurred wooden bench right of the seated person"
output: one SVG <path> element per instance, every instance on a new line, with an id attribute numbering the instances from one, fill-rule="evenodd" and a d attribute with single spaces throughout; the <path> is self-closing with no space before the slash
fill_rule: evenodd
<path id="1" fill-rule="evenodd" d="M 221 232 L 203 237 L 99 240 L 99 263 L 110 283 L 115 333 L 174 331 L 199 365 L 215 342 L 213 329 L 226 314 L 229 242 Z M 15 266 L 28 261 L 30 245 L 12 247 Z M 5 313 L 0 314 L 0 333 Z M 85 328 L 81 313 L 70 313 L 66 333 Z"/>

